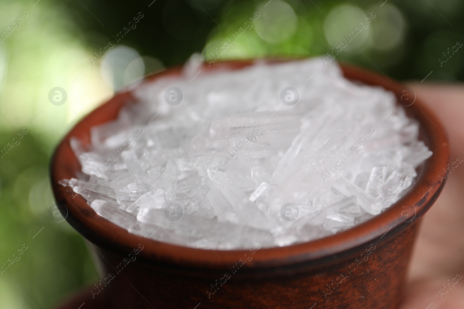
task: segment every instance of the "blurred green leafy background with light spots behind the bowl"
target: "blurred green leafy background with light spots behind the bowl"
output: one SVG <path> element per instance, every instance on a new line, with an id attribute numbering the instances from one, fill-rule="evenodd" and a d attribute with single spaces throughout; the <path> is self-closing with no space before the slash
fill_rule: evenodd
<path id="1" fill-rule="evenodd" d="M 464 0 L 36 1 L 0 0 L 0 308 L 53 308 L 97 278 L 54 212 L 49 160 L 80 117 L 143 76 L 193 53 L 327 56 L 345 41 L 339 61 L 399 80 L 464 79 Z"/>

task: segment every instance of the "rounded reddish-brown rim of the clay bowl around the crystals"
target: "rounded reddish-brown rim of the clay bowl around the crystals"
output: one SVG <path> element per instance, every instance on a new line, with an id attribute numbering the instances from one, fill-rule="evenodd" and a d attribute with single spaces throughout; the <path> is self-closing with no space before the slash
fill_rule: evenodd
<path id="1" fill-rule="evenodd" d="M 300 60 L 302 59 L 291 59 L 290 61 Z M 288 59 L 268 58 L 261 61 L 275 63 L 288 61 Z M 253 63 L 255 60 L 229 60 L 210 64 L 211 67 L 204 63 L 202 68 L 205 70 L 241 69 Z M 399 103 L 410 100 L 409 97 L 405 98 L 405 95 L 410 95 L 413 89 L 403 86 L 387 76 L 381 76 L 370 70 L 348 64 L 340 64 L 340 67 L 344 76 L 350 80 L 358 80 L 368 85 L 381 86 L 390 90 Z M 173 67 L 145 79 L 142 84 L 154 82 L 155 79 L 162 76 L 178 76 L 180 72 L 180 67 Z M 65 187 L 58 184 L 59 180 L 75 177 L 76 172 L 80 171 L 80 164 L 71 150 L 70 138 L 77 137 L 84 144 L 88 143 L 91 126 L 115 119 L 120 108 L 133 101 L 135 98 L 131 90 L 116 94 L 73 126 L 58 144 L 51 158 L 50 173 L 54 197 L 66 221 L 87 240 L 113 252 L 131 252 L 139 244 L 143 244 L 140 257 L 154 263 L 210 269 L 226 268 L 237 263 L 244 257 L 247 250 L 197 249 L 131 234 L 122 227 L 97 215 L 81 195 L 73 195 L 72 191 L 68 192 Z M 438 198 L 445 184 L 445 179 L 440 175 L 445 174 L 448 164 L 449 143 L 440 121 L 416 95 L 411 105 L 402 105 L 406 113 L 419 121 L 422 137 L 426 139 L 423 140 L 433 151 L 432 156 L 423 164 L 423 169 L 416 178 L 416 183 L 412 184 L 413 187 L 406 195 L 381 214 L 348 230 L 309 242 L 256 250 L 253 259 L 245 263 L 246 268 L 269 268 L 298 263 L 317 263 L 318 260 L 325 262 L 334 260 L 332 256 L 335 257 L 336 253 L 353 251 L 367 242 L 381 243 L 391 240 L 425 214 Z M 382 240 L 385 235 L 387 237 Z"/>

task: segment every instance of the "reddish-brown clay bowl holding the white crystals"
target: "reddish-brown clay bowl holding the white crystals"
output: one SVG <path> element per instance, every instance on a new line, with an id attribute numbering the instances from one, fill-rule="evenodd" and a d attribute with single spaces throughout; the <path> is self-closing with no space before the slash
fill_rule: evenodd
<path id="1" fill-rule="evenodd" d="M 205 65 L 202 70 L 238 69 L 252 63 L 223 62 Z M 87 308 L 124 309 L 396 308 L 420 218 L 444 186 L 441 177 L 448 164 L 449 145 L 442 125 L 415 99 L 412 89 L 364 69 L 348 65 L 342 65 L 342 69 L 347 78 L 382 86 L 396 94 L 399 104 L 409 105 L 406 112 L 420 122 L 420 138 L 433 151 L 418 170 L 412 189 L 398 202 L 341 233 L 292 246 L 259 249 L 254 254 L 193 249 L 130 234 L 98 216 L 83 197 L 58 184 L 61 179 L 76 177 L 81 170 L 70 138 L 88 144 L 91 126 L 115 119 L 119 109 L 134 100 L 130 92 L 117 94 L 79 122 L 58 145 L 52 159 L 52 186 L 58 207 L 68 223 L 90 242 L 102 278 L 69 304 L 85 302 Z M 179 68 L 168 69 L 157 77 L 179 73 Z M 129 253 L 134 254 L 137 248 L 143 249 L 125 265 Z M 243 261 L 245 253 L 251 259 L 234 272 L 232 266 Z M 226 273 L 230 278 L 225 279 Z M 110 274 L 114 276 L 111 279 Z M 216 292 L 210 294 L 213 286 Z"/>

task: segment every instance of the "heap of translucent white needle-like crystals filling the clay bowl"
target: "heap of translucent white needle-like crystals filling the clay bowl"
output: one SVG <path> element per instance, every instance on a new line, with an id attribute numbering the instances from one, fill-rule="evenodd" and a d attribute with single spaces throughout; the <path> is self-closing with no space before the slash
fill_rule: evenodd
<path id="1" fill-rule="evenodd" d="M 60 183 L 129 233 L 180 246 L 287 246 L 346 230 L 399 200 L 432 155 L 392 93 L 321 58 L 233 71 L 191 58 L 133 97 L 91 128 L 88 147 L 71 139 L 82 173 Z"/>

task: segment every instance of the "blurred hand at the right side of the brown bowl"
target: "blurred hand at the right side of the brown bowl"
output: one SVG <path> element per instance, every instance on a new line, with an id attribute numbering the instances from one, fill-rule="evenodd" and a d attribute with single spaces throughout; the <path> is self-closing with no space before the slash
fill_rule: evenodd
<path id="1" fill-rule="evenodd" d="M 445 126 L 451 139 L 450 163 L 458 157 L 464 160 L 464 86 L 422 83 L 410 86 Z M 464 276 L 463 206 L 464 162 L 451 171 L 437 202 L 421 222 L 399 309 L 464 308 L 464 277 L 452 283 L 458 273 Z"/>

